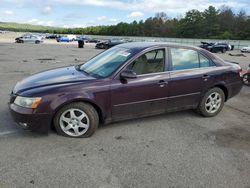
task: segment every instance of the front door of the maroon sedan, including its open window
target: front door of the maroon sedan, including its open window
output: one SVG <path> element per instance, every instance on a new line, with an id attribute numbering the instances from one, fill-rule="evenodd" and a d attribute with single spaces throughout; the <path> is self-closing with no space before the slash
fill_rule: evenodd
<path id="1" fill-rule="evenodd" d="M 148 51 L 124 68 L 136 72 L 137 78 L 112 81 L 113 121 L 165 112 L 169 81 L 166 59 L 165 48 Z"/>

